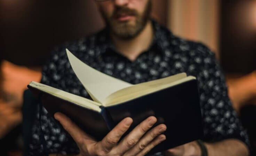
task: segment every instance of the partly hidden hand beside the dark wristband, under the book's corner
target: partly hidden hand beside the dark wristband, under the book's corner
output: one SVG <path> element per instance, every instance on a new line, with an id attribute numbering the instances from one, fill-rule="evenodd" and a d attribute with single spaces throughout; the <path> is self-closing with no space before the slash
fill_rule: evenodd
<path id="1" fill-rule="evenodd" d="M 201 149 L 196 141 L 169 149 L 166 156 L 201 156 Z"/>

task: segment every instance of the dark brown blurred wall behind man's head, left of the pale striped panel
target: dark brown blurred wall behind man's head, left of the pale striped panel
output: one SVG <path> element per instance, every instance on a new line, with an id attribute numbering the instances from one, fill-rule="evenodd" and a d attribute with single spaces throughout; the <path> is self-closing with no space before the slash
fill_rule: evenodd
<path id="1" fill-rule="evenodd" d="M 152 16 L 163 25 L 166 3 L 153 0 Z M 94 0 L 0 0 L 0 17 L 0 57 L 26 66 L 41 66 L 54 45 L 104 27 Z"/>

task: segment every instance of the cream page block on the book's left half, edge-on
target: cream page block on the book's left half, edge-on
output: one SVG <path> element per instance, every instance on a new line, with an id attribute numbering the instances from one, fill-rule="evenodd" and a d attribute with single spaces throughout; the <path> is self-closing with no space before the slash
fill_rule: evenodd
<path id="1" fill-rule="evenodd" d="M 55 97 L 61 98 L 63 100 L 66 101 L 70 101 L 72 103 L 75 103 L 77 105 L 80 105 L 82 107 L 86 107 L 92 110 L 95 110 L 97 112 L 101 112 L 101 108 L 99 108 L 101 106 L 100 103 L 97 103 L 95 101 L 83 98 L 83 97 L 79 97 L 78 95 L 74 95 L 71 94 L 69 92 L 65 92 L 56 88 L 53 88 L 51 86 L 45 85 L 45 84 L 41 84 L 38 82 L 34 82 L 32 81 L 29 84 L 31 87 L 33 88 L 37 88 L 43 92 L 46 92 L 48 94 L 54 95 Z"/>

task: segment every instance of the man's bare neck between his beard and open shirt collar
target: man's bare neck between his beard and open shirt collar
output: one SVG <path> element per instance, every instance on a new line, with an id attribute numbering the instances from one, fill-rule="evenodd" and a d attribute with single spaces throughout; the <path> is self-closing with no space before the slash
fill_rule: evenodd
<path id="1" fill-rule="evenodd" d="M 152 22 L 149 20 L 139 35 L 130 40 L 122 40 L 112 35 L 112 42 L 118 52 L 134 61 L 143 51 L 151 45 L 154 37 Z"/>

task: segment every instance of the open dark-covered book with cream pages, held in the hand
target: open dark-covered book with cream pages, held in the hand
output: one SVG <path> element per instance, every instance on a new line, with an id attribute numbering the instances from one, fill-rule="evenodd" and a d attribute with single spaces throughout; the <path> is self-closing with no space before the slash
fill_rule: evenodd
<path id="1" fill-rule="evenodd" d="M 51 115 L 63 112 L 98 140 L 125 117 L 134 119 L 132 129 L 153 115 L 158 119 L 156 125 L 166 124 L 167 140 L 152 152 L 202 137 L 195 77 L 180 73 L 134 85 L 99 72 L 66 51 L 74 73 L 93 101 L 32 81 L 28 88 L 36 97 L 41 96 Z"/>

